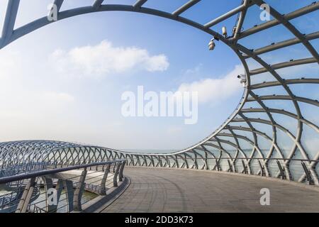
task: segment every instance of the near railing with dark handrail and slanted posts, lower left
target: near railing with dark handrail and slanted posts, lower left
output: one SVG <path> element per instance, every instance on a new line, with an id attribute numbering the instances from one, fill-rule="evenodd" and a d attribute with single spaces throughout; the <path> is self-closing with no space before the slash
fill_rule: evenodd
<path id="1" fill-rule="evenodd" d="M 62 167 L 51 164 L 51 169 L 1 177 L 0 188 L 12 182 L 25 184 L 0 196 L 0 213 L 82 211 L 94 197 L 84 191 L 107 196 L 108 189 L 124 179 L 123 159 Z"/>

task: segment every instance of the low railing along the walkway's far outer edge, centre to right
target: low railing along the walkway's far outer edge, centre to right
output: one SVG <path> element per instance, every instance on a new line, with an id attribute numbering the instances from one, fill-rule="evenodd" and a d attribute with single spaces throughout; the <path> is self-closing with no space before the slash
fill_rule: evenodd
<path id="1" fill-rule="evenodd" d="M 206 156 L 206 157 L 205 157 Z M 274 177 L 306 184 L 319 185 L 319 160 L 258 158 L 258 157 L 207 157 L 207 155 L 128 155 L 128 166 L 168 167 L 177 169 L 211 170 L 245 175 Z"/>

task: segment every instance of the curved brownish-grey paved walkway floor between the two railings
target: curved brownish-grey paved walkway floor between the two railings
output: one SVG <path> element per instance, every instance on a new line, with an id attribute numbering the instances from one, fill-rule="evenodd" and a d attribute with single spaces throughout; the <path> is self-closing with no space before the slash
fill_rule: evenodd
<path id="1" fill-rule="evenodd" d="M 319 192 L 218 172 L 125 167 L 128 189 L 103 212 L 319 212 Z M 260 189 L 270 189 L 261 206 Z"/>

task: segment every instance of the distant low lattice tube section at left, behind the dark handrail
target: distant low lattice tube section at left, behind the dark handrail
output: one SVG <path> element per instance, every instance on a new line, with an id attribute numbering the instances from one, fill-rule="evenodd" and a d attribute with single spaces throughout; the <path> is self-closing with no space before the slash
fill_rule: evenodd
<path id="1" fill-rule="evenodd" d="M 0 143 L 0 170 L 36 162 L 50 165 L 81 165 L 123 157 L 118 150 L 58 141 L 26 140 Z"/>

